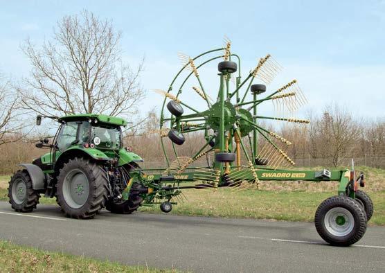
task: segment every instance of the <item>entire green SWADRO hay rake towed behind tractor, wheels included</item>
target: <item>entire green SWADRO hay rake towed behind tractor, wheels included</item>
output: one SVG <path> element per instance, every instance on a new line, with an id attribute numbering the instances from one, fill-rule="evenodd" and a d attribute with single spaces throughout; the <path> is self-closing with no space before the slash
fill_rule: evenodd
<path id="1" fill-rule="evenodd" d="M 261 124 L 265 120 L 309 123 L 295 117 L 299 107 L 307 103 L 305 94 L 297 80 L 292 80 L 266 95 L 266 85 L 283 67 L 271 55 L 266 55 L 242 79 L 240 56 L 231 51 L 229 39 L 225 38 L 224 43 L 222 48 L 196 57 L 179 53 L 182 67 L 168 89 L 154 90 L 164 97 L 157 132 L 168 168 L 147 169 L 136 178 L 133 176 L 149 188 L 143 196 L 143 205 L 161 204 L 161 210 L 169 212 L 172 204 L 183 200 L 184 188 L 215 190 L 228 186 L 233 191 L 245 191 L 259 189 L 262 180 L 338 181 L 338 195 L 322 202 L 316 211 L 316 230 L 332 245 L 356 243 L 364 236 L 367 221 L 373 214 L 370 197 L 358 190 L 364 186 L 364 174 L 356 177 L 354 167 L 332 171 L 289 168 L 295 166 L 286 152 L 292 143 Z M 199 74 L 212 62 L 217 64 L 219 72 L 217 92 L 209 92 Z M 190 86 L 192 81 L 195 84 Z M 191 93 L 200 99 L 199 109 L 190 105 L 191 95 L 185 95 Z M 258 107 L 269 102 L 276 116 L 259 114 Z M 197 137 L 200 137 L 204 144 L 190 157 L 179 155 L 179 146 L 192 132 L 195 132 L 194 141 L 198 143 Z M 206 167 L 195 166 L 209 154 L 214 158 L 212 164 L 207 160 Z M 150 171 L 154 174 L 145 175 Z"/>

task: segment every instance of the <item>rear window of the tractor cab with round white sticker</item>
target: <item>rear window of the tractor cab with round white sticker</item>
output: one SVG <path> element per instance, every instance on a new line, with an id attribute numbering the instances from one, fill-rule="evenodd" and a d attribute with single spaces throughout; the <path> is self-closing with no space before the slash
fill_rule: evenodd
<path id="1" fill-rule="evenodd" d="M 91 143 L 95 144 L 96 148 L 119 149 L 120 142 L 120 127 L 91 127 Z"/>

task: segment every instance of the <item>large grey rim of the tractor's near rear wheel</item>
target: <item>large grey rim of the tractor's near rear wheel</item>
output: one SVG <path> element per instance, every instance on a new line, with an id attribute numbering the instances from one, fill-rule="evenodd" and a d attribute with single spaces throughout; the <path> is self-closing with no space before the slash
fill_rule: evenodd
<path id="1" fill-rule="evenodd" d="M 63 196 L 66 204 L 73 209 L 82 207 L 88 199 L 89 181 L 79 169 L 71 170 L 63 182 Z"/>

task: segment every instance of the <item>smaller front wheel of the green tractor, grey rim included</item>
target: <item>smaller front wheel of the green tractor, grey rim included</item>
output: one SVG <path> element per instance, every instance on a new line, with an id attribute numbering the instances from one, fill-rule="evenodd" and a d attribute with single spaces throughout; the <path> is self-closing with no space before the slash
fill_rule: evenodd
<path id="1" fill-rule="evenodd" d="M 33 191 L 32 181 L 26 170 L 18 170 L 9 182 L 8 198 L 17 212 L 31 212 L 39 204 L 39 193 Z"/>

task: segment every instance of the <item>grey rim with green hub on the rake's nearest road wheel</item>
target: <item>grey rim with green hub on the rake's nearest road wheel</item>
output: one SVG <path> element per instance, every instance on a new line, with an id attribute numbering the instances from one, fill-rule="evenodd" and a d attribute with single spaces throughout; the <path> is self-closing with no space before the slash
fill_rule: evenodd
<path id="1" fill-rule="evenodd" d="M 324 223 L 330 234 L 339 237 L 350 234 L 355 227 L 352 213 L 341 207 L 330 209 L 325 215 Z"/>

